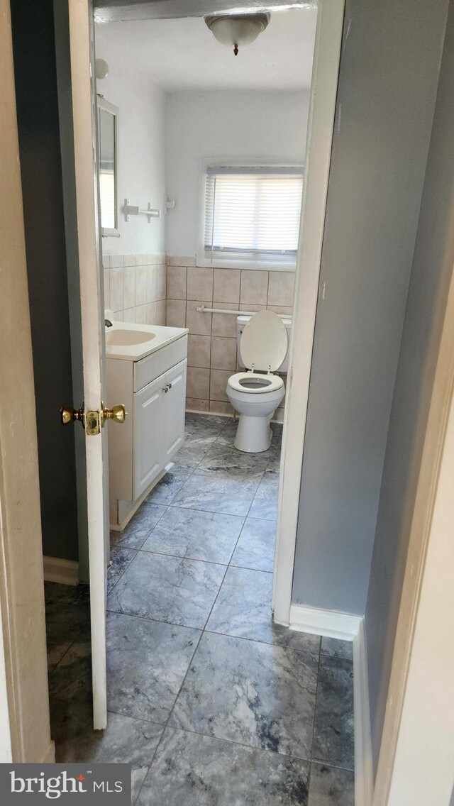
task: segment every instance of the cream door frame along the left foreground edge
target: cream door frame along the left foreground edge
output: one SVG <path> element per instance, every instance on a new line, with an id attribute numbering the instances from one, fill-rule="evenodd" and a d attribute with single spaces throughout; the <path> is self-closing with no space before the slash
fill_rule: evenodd
<path id="1" fill-rule="evenodd" d="M 0 0 L 0 762 L 53 762 L 10 3 Z"/>

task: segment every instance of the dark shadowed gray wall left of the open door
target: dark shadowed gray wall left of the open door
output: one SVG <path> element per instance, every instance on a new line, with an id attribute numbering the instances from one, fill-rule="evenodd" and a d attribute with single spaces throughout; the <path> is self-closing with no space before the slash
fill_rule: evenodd
<path id="1" fill-rule="evenodd" d="M 73 389 L 52 0 L 11 0 L 11 18 L 43 550 L 77 559 L 74 432 L 59 418 Z"/>

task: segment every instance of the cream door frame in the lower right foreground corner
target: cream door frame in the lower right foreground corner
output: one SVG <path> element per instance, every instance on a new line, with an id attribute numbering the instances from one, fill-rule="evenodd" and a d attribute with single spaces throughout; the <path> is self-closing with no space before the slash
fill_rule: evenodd
<path id="1" fill-rule="evenodd" d="M 454 679 L 447 670 L 454 661 L 453 478 L 454 269 L 410 526 L 373 806 L 404 801 L 448 806 L 451 796 Z M 442 635 L 448 637 L 443 652 Z M 436 740 L 427 742 L 427 736 Z"/>

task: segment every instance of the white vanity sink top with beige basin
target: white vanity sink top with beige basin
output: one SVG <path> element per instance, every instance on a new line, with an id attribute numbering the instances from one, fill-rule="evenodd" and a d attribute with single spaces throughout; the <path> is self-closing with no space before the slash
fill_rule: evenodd
<path id="1" fill-rule="evenodd" d="M 146 355 L 181 339 L 187 333 L 185 327 L 112 322 L 112 327 L 106 330 L 106 356 L 126 361 L 140 361 Z"/>

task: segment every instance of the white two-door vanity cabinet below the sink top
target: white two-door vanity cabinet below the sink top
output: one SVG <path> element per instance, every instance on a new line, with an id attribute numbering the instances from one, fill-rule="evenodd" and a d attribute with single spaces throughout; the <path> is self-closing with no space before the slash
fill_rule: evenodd
<path id="1" fill-rule="evenodd" d="M 114 528 L 123 528 L 184 441 L 186 353 L 183 335 L 138 361 L 107 356 L 108 400 L 124 403 L 128 413 L 108 434 Z"/>

